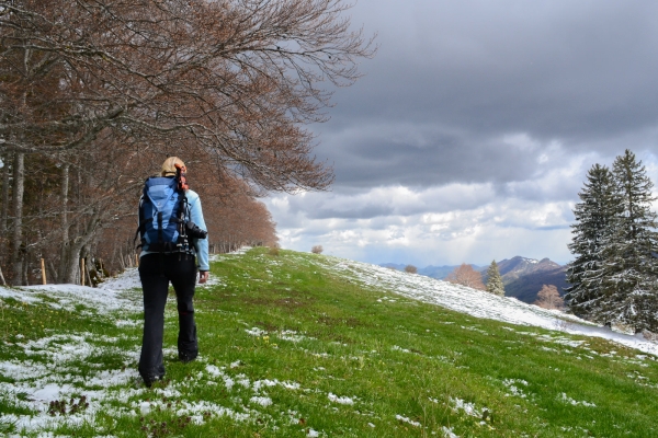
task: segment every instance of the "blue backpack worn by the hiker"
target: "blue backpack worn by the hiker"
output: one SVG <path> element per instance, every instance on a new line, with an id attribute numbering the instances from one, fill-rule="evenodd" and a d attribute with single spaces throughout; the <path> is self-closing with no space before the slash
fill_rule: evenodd
<path id="1" fill-rule="evenodd" d="M 149 177 L 139 199 L 139 246 L 148 252 L 189 251 L 185 232 L 189 216 L 188 198 L 178 178 Z"/>

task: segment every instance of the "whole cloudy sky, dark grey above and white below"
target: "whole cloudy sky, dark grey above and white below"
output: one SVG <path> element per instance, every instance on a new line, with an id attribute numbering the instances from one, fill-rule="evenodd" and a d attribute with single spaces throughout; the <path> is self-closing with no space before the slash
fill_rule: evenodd
<path id="1" fill-rule="evenodd" d="M 313 126 L 330 192 L 272 195 L 281 245 L 368 263 L 568 262 L 593 163 L 658 183 L 658 2 L 359 0 L 366 74 Z"/>

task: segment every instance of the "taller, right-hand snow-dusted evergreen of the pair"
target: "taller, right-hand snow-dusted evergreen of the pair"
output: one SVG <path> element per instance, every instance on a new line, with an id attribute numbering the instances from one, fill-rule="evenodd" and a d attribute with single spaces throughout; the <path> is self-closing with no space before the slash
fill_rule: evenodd
<path id="1" fill-rule="evenodd" d="M 654 184 L 629 150 L 616 158 L 612 173 L 617 215 L 603 241 L 600 267 L 588 270 L 582 283 L 586 288 L 599 289 L 599 297 L 592 300 L 595 321 L 656 331 L 658 222 L 650 210 L 656 200 Z"/>

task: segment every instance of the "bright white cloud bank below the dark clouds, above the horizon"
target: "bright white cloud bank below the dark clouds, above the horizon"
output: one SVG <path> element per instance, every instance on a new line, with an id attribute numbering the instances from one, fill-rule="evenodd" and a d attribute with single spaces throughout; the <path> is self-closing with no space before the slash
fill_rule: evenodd
<path id="1" fill-rule="evenodd" d="M 530 137 L 518 141 L 533 142 Z M 515 140 L 515 141 L 517 141 Z M 572 208 L 594 153 L 569 155 L 559 145 L 548 165 L 531 178 L 507 184 L 452 183 L 430 187 L 378 186 L 360 191 L 276 195 L 268 198 L 283 247 L 325 253 L 370 263 L 485 265 L 523 255 L 571 260 Z M 638 154 L 653 178 L 651 154 Z"/>

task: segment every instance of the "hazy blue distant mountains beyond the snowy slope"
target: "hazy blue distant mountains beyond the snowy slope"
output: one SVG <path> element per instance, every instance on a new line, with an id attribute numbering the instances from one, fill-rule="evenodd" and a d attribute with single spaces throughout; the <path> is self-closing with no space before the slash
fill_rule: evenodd
<path id="1" fill-rule="evenodd" d="M 386 263 L 382 266 L 394 267 L 398 270 L 405 270 L 401 264 Z M 483 281 L 487 283 L 488 266 L 470 265 L 475 270 L 483 273 Z M 445 279 L 458 265 L 455 266 L 426 266 L 418 268 L 418 274 L 436 279 Z M 498 262 L 498 270 L 502 276 L 504 284 L 504 295 L 514 297 L 523 302 L 532 303 L 537 299 L 537 292 L 542 290 L 543 285 L 553 285 L 557 287 L 560 295 L 563 288 L 567 287 L 566 266 L 561 266 L 549 258 L 526 258 L 515 256 Z"/>

